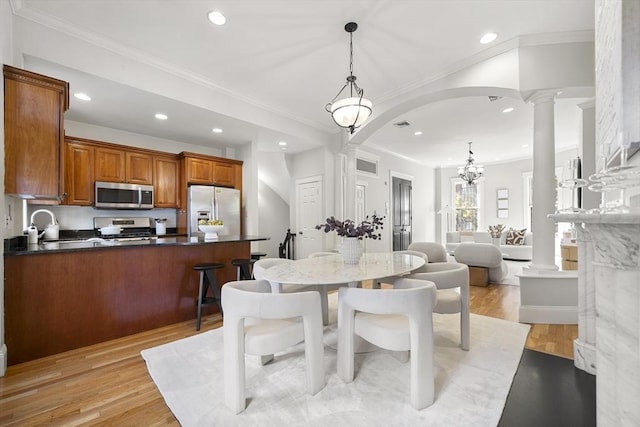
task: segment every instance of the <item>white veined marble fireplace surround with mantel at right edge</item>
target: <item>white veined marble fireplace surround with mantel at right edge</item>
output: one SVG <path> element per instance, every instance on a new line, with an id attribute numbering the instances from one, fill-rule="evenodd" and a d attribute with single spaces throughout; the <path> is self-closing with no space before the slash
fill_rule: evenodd
<path id="1" fill-rule="evenodd" d="M 578 237 L 575 366 L 596 377 L 598 425 L 640 425 L 640 214 L 558 214 Z"/>

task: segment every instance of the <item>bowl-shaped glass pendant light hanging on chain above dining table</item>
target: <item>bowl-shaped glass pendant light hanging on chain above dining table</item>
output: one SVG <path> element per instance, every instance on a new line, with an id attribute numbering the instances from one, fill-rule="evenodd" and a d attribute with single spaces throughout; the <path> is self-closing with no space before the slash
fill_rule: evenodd
<path id="1" fill-rule="evenodd" d="M 371 101 L 364 98 L 364 90 L 356 84 L 356 76 L 353 75 L 353 32 L 358 29 L 358 24 L 349 22 L 344 26 L 349 33 L 349 76 L 347 82 L 338 94 L 328 103 L 325 108 L 331 113 L 333 121 L 342 128 L 346 128 L 353 133 L 371 115 Z M 349 87 L 349 96 L 339 99 L 344 90 Z"/>

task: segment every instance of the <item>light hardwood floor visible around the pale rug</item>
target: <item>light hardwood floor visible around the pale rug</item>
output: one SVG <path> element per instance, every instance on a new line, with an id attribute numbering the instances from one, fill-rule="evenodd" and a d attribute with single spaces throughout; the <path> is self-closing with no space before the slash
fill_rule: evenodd
<path id="1" fill-rule="evenodd" d="M 517 286 L 471 288 L 473 313 L 517 321 L 519 300 Z M 220 325 L 219 316 L 210 316 L 201 331 Z M 183 322 L 10 366 L 0 378 L 0 425 L 177 426 L 140 351 L 194 329 L 195 321 Z M 526 347 L 572 358 L 576 337 L 575 325 L 534 325 Z"/>

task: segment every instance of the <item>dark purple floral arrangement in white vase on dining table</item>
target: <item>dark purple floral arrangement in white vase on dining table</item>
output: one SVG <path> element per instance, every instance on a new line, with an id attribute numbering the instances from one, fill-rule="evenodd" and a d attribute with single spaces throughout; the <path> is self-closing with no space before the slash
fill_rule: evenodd
<path id="1" fill-rule="evenodd" d="M 340 253 L 345 264 L 358 264 L 362 257 L 362 239 L 380 239 L 382 230 L 382 220 L 384 217 L 372 215 L 367 216 L 360 224 L 353 220 L 345 219 L 340 221 L 335 217 L 329 217 L 324 224 L 316 225 L 316 230 L 324 230 L 325 233 L 335 231 L 338 236 L 344 237 Z"/>

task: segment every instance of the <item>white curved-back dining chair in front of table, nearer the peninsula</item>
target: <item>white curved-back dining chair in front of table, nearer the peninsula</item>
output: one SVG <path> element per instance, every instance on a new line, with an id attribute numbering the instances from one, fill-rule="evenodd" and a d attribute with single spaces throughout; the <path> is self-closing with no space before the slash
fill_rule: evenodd
<path id="1" fill-rule="evenodd" d="M 322 313 L 317 292 L 271 293 L 266 280 L 228 282 L 222 287 L 224 309 L 224 400 L 234 413 L 246 407 L 245 354 L 274 353 L 304 341 L 307 391 L 325 386 Z"/>

